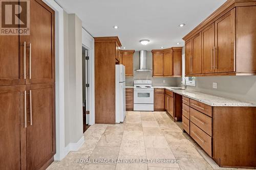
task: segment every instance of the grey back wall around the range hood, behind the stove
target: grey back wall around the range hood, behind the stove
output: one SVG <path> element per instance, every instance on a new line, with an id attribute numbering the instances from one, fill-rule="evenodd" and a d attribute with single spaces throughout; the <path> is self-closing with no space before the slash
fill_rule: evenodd
<path id="1" fill-rule="evenodd" d="M 152 71 L 135 71 L 139 69 L 139 51 L 136 51 L 133 56 L 133 77 L 126 77 L 125 83 L 126 86 L 133 86 L 134 80 L 152 80 L 153 86 L 176 86 L 177 85 L 177 78 L 156 78 L 152 77 Z M 147 67 L 148 69 L 153 68 L 153 60 L 152 60 L 152 53 L 151 51 L 147 51 Z M 165 83 L 163 83 L 165 81 Z"/>

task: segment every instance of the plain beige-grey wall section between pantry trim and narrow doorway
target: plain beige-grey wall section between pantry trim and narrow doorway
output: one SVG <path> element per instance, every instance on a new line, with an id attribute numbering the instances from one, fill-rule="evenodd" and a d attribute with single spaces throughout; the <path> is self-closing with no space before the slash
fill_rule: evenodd
<path id="1" fill-rule="evenodd" d="M 82 137 L 82 22 L 64 12 L 65 147 Z M 71 149 L 72 150 L 72 149 Z"/>

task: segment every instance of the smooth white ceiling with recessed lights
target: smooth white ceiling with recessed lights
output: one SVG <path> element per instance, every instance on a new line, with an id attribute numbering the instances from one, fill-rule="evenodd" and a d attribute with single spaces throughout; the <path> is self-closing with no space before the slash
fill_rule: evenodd
<path id="1" fill-rule="evenodd" d="M 182 38 L 225 0 L 55 0 L 93 37 L 118 36 L 126 50 L 183 46 Z M 178 27 L 181 23 L 186 25 Z M 118 26 L 114 29 L 113 26 Z M 149 39 L 147 45 L 141 39 Z M 180 44 L 177 45 L 176 43 Z"/>

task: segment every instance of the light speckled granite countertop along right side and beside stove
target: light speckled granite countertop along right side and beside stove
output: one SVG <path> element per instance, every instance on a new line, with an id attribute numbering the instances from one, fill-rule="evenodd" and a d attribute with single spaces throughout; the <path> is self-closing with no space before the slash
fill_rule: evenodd
<path id="1" fill-rule="evenodd" d="M 126 88 L 133 88 L 133 86 L 126 86 Z M 154 86 L 154 88 L 164 88 L 173 91 L 177 94 L 186 96 L 187 98 L 193 99 L 198 102 L 202 102 L 209 106 L 239 106 L 239 107 L 256 107 L 256 103 L 240 101 L 237 99 L 231 99 L 212 94 L 206 94 L 193 89 L 177 90 L 179 87 L 167 87 L 167 86 Z"/>

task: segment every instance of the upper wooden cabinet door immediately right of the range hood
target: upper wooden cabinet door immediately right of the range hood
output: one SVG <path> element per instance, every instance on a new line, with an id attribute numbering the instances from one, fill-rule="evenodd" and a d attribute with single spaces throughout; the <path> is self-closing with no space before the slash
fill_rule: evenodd
<path id="1" fill-rule="evenodd" d="M 163 54 L 153 54 L 153 76 L 163 76 Z"/>

